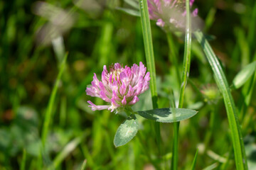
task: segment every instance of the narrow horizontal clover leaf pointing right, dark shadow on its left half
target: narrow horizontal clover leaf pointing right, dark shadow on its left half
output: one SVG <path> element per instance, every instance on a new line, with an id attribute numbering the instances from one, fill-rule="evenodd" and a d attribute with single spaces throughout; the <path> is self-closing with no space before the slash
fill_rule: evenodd
<path id="1" fill-rule="evenodd" d="M 197 111 L 186 108 L 156 108 L 150 111 L 138 111 L 139 115 L 161 123 L 174 123 L 191 118 Z"/>

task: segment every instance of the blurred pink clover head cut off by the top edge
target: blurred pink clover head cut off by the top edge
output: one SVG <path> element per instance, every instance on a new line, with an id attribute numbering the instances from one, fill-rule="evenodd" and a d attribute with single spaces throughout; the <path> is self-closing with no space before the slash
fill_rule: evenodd
<path id="1" fill-rule="evenodd" d="M 190 0 L 192 6 L 195 0 Z M 185 0 L 147 0 L 149 7 L 149 18 L 156 20 L 160 27 L 169 26 L 174 28 L 185 28 L 186 5 Z M 196 17 L 198 8 L 192 12 Z"/>

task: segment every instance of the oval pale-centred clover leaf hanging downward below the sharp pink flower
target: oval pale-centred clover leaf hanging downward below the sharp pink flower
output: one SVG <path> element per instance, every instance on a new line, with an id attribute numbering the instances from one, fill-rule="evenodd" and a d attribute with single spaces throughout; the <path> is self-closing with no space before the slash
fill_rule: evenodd
<path id="1" fill-rule="evenodd" d="M 116 134 L 114 135 L 114 146 L 120 147 L 127 144 L 139 130 L 139 124 L 137 118 L 134 114 L 129 115 L 129 117 L 124 120 L 119 128 L 117 129 Z"/>

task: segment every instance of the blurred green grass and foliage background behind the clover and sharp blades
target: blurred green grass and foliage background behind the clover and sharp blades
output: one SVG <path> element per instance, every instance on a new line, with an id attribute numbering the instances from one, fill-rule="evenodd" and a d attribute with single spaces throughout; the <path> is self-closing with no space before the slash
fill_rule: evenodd
<path id="1" fill-rule="evenodd" d="M 240 69 L 256 60 L 256 3 L 197 0 L 195 6 L 231 84 Z M 145 63 L 140 19 L 117 7 L 129 8 L 122 0 L 0 1 L 0 169 L 20 169 L 23 163 L 25 169 L 80 169 L 85 159 L 85 169 L 170 166 L 172 124 L 161 124 L 163 157 L 159 157 L 151 121 L 138 118 L 141 127 L 137 137 L 115 148 L 114 134 L 124 118 L 109 111 L 92 112 L 87 107 L 87 100 L 103 103 L 85 94 L 93 73 L 100 76 L 103 65 Z M 178 99 L 178 74 L 166 34 L 154 21 L 151 28 L 159 108 L 170 107 L 172 92 L 174 100 Z M 179 56 L 181 71 L 183 35 L 171 36 L 175 45 L 171 50 Z M 44 115 L 66 51 L 69 56 L 53 107 L 46 151 L 42 153 Z M 209 98 L 201 93 L 207 84 L 214 84 L 212 75 L 200 45 L 194 41 L 184 107 L 199 112 L 180 125 L 181 169 L 191 168 L 197 148 L 196 169 L 235 166 L 223 100 L 218 97 L 207 102 Z M 244 86 L 233 89 L 250 169 L 256 162 L 255 77 L 254 73 Z M 134 110 L 150 108 L 147 91 Z"/>

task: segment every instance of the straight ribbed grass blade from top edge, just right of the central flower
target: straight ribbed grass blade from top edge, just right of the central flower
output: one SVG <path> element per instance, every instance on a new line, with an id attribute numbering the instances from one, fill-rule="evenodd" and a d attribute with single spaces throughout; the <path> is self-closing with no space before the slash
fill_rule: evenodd
<path id="1" fill-rule="evenodd" d="M 141 14 L 141 20 L 142 20 L 142 33 L 143 33 L 144 48 L 145 48 L 145 54 L 146 54 L 146 64 L 151 74 L 150 75 L 151 98 L 152 98 L 153 108 L 155 109 L 155 108 L 158 108 L 157 91 L 156 91 L 156 68 L 155 68 L 155 62 L 154 62 L 153 43 L 151 38 L 149 9 L 148 9 L 146 0 L 139 1 L 139 12 Z M 160 123 L 155 122 L 154 128 L 156 131 L 156 142 L 157 142 L 157 146 L 159 147 L 159 154 L 161 155 Z"/>

